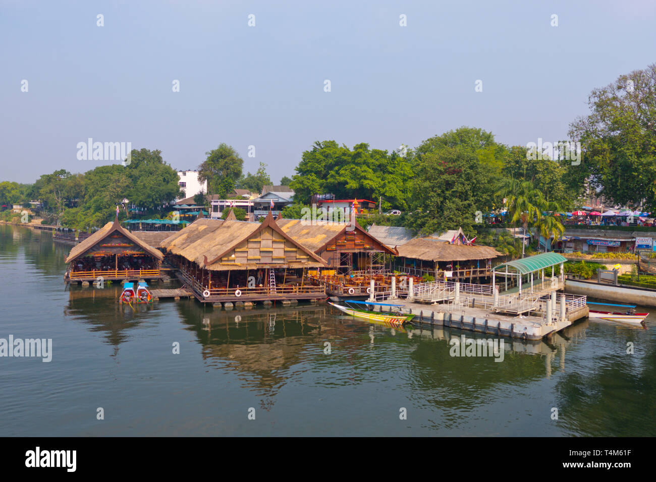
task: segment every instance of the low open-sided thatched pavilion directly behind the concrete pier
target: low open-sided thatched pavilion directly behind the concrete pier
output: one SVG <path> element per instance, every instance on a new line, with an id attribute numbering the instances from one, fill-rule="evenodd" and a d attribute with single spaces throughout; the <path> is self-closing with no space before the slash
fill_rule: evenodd
<path id="1" fill-rule="evenodd" d="M 469 280 L 492 275 L 492 260 L 502 254 L 490 246 L 468 244 L 462 230 L 440 237 L 415 237 L 397 247 L 394 270 L 435 279 Z"/>

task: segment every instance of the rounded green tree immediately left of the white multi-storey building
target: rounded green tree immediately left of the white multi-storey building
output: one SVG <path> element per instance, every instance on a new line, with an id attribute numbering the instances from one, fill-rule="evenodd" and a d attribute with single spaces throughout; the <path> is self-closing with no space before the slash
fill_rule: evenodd
<path id="1" fill-rule="evenodd" d="M 134 205 L 155 209 L 180 195 L 178 172 L 159 150 L 134 149 L 132 162 L 123 169 L 131 184 L 126 197 Z"/>

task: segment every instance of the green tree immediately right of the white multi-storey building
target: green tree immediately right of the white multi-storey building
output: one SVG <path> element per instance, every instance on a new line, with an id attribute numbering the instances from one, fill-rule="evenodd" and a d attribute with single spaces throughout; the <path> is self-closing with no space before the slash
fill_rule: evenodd
<path id="1" fill-rule="evenodd" d="M 198 167 L 198 178 L 207 181 L 207 192 L 225 198 L 232 191 L 243 169 L 243 159 L 232 146 L 221 143 L 205 153 L 207 159 Z"/>

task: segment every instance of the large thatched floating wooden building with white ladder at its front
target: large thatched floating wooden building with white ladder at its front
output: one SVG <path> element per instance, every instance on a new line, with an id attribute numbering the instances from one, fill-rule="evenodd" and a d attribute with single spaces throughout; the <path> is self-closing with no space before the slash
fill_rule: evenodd
<path id="1" fill-rule="evenodd" d="M 306 285 L 304 271 L 326 262 L 277 226 L 264 222 L 198 219 L 161 243 L 178 276 L 201 302 L 255 302 L 325 298 Z"/>

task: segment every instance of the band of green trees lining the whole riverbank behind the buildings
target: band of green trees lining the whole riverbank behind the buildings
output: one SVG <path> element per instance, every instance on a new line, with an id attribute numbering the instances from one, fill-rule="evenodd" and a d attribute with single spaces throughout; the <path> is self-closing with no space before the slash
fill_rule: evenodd
<path id="1" fill-rule="evenodd" d="M 295 191 L 294 203 L 283 209 L 282 216 L 300 218 L 317 194 L 365 198 L 379 206 L 358 218 L 364 227 L 403 226 L 415 235 L 462 228 L 468 237 L 477 236 L 478 243 L 512 258 L 539 252 L 537 243 L 523 250 L 516 235 L 531 230 L 554 241 L 562 239 L 565 228 L 557 213 L 580 207 L 590 193 L 616 205 L 656 211 L 656 190 L 651 189 L 656 170 L 648 169 L 656 163 L 656 99 L 647 95 L 654 90 L 656 64 L 592 90 L 588 115 L 570 124 L 569 140 L 553 144 L 543 144 L 540 138 L 527 147 L 506 146 L 492 132 L 477 127 L 459 127 L 415 148 L 401 146 L 391 152 L 365 142 L 348 148 L 335 140 L 316 141 L 300 155 L 296 174 L 281 179 Z M 581 149 L 573 161 L 563 146 L 575 143 Z M 207 180 L 208 192 L 197 193 L 206 206 L 205 194 L 226 198 L 236 188 L 258 192 L 272 184 L 265 163 L 260 162 L 254 174 L 243 174 L 241 155 L 225 143 L 207 151 L 197 169 L 199 180 Z M 633 173 L 630 179 L 626 172 Z M 180 195 L 177 172 L 161 151 L 134 149 L 123 165 L 98 166 L 84 173 L 59 169 L 33 184 L 0 182 L 0 220 L 20 220 L 20 212 L 11 212 L 13 205 L 26 211 L 38 205 L 43 224 L 90 231 L 112 220 L 117 206 L 121 220 L 165 218 L 169 203 Z M 129 206 L 138 211 L 129 211 Z M 392 209 L 401 214 L 381 213 Z M 514 232 L 489 230 L 499 226 Z M 581 258 L 588 260 L 583 254 Z"/>

